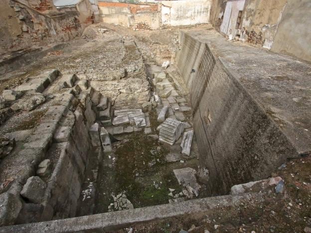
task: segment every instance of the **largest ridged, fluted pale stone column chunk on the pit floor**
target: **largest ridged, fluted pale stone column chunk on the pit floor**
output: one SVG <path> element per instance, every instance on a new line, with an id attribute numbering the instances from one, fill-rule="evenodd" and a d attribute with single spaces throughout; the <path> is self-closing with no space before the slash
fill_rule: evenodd
<path id="1" fill-rule="evenodd" d="M 184 124 L 172 118 L 167 118 L 160 127 L 159 141 L 173 145 L 183 132 Z"/>

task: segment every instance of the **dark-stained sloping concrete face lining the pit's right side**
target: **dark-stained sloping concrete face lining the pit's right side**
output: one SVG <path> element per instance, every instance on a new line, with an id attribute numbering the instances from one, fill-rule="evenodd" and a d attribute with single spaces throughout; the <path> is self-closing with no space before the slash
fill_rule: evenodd
<path id="1" fill-rule="evenodd" d="M 200 161 L 209 170 L 211 194 L 263 179 L 297 154 L 208 46 L 181 32 L 176 62 L 190 93 Z M 191 69 L 195 72 L 189 74 Z"/>

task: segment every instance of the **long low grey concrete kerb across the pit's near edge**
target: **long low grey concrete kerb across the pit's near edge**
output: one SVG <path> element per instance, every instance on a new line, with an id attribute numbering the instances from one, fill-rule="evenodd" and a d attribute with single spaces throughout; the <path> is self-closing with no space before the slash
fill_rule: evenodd
<path id="1" fill-rule="evenodd" d="M 260 194 L 241 194 L 237 196 L 219 196 L 181 203 L 137 208 L 134 210 L 83 216 L 78 218 L 55 220 L 27 225 L 16 225 L 0 228 L 0 233 L 7 232 L 78 232 L 78 231 L 115 231 L 134 223 L 143 223 L 156 219 L 164 219 L 202 211 L 217 211 L 219 208 L 239 206 L 250 202 L 262 202 Z"/>

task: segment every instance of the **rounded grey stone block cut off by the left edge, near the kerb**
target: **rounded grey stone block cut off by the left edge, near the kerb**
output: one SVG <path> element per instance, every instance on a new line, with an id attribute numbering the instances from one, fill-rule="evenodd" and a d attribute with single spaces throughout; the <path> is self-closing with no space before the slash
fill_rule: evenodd
<path id="1" fill-rule="evenodd" d="M 13 225 L 22 208 L 20 199 L 9 192 L 0 194 L 0 227 Z"/>

